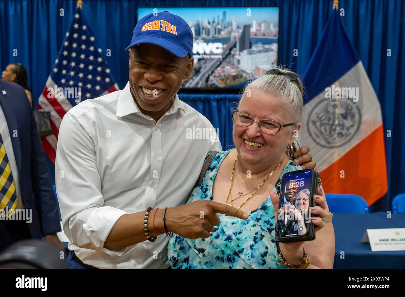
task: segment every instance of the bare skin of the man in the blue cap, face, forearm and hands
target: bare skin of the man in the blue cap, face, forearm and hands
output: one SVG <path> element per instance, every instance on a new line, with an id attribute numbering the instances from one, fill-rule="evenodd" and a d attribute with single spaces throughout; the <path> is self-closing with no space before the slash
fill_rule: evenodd
<path id="1" fill-rule="evenodd" d="M 177 57 L 166 49 L 149 43 L 135 45 L 128 52 L 132 97 L 141 112 L 157 122 L 173 104 L 183 79 L 190 76 L 194 59 L 189 55 Z M 158 97 L 148 99 L 144 97 L 141 87 L 164 91 Z M 302 161 L 311 161 L 312 156 L 307 154 L 308 151 L 308 147 L 301 148 Z M 307 168 L 311 168 L 311 165 L 315 167 L 314 162 L 306 165 Z M 200 218 L 201 211 L 204 212 L 203 219 Z M 248 218 L 245 212 L 226 204 L 202 200 L 168 208 L 166 226 L 168 231 L 185 238 L 208 238 L 210 232 L 214 231 L 214 226 L 220 224 L 218 213 L 236 216 L 239 219 Z M 105 240 L 104 248 L 114 250 L 145 241 L 144 216 L 145 211 L 121 216 Z M 163 216 L 164 209 L 151 210 L 149 217 L 155 217 L 156 227 L 156 229 L 153 227 L 153 220 L 148 220 L 148 231 L 151 237 L 164 233 Z"/>

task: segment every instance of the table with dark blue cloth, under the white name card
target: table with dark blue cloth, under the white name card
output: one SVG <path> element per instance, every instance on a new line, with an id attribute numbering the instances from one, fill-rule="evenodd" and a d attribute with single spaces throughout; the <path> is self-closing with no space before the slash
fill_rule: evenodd
<path id="1" fill-rule="evenodd" d="M 405 228 L 405 214 L 333 214 L 335 228 L 334 269 L 405 269 L 405 251 L 372 252 L 362 243 L 366 229 Z M 341 259 L 341 252 L 344 259 Z"/>

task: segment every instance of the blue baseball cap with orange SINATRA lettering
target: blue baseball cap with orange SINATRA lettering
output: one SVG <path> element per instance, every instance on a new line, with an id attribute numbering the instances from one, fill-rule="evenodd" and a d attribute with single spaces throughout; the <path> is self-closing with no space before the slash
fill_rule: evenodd
<path id="1" fill-rule="evenodd" d="M 177 57 L 193 56 L 193 33 L 189 25 L 168 11 L 140 19 L 132 33 L 131 44 L 125 50 L 141 43 L 159 45 Z"/>

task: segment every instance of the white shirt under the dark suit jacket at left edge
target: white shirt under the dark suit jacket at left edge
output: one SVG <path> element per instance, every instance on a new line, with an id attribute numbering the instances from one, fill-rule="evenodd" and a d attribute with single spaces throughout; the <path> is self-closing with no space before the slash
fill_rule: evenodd
<path id="1" fill-rule="evenodd" d="M 15 135 L 18 137 L 18 132 L 15 131 Z M 4 148 L 6 149 L 7 158 L 9 159 L 11 174 L 13 174 L 15 194 L 17 195 L 17 206 L 15 207 L 18 212 L 24 208 L 23 200 L 21 199 L 20 181 L 17 169 L 17 163 L 15 161 L 13 144 L 11 143 L 11 136 L 9 126 L 7 125 L 6 117 L 4 116 L 3 109 L 0 106 L 0 134 L 3 140 Z M 2 212 L 4 216 L 4 212 Z"/>

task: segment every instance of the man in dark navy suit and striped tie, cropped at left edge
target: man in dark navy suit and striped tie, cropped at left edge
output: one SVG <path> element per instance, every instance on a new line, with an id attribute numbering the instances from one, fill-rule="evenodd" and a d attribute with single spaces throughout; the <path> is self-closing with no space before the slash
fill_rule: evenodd
<path id="1" fill-rule="evenodd" d="M 27 94 L 0 80 L 0 252 L 28 238 L 63 248 L 59 231 L 58 205 Z"/>

